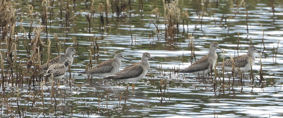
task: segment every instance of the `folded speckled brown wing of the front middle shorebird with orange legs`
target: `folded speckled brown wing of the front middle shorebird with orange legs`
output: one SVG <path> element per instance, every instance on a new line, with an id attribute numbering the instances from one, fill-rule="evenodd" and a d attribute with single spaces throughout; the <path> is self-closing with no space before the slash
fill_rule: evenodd
<path id="1" fill-rule="evenodd" d="M 134 78 L 140 76 L 142 73 L 143 73 L 143 68 L 140 65 L 132 64 L 119 72 L 109 75 L 104 79 L 119 80 L 119 79 Z"/>

